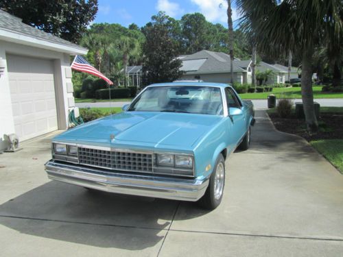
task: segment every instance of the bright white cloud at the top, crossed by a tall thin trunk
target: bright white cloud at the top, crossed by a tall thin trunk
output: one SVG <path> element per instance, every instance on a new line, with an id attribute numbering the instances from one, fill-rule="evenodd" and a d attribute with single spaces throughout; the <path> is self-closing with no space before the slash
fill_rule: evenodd
<path id="1" fill-rule="evenodd" d="M 198 5 L 198 12 L 204 14 L 207 21 L 212 23 L 227 23 L 228 2 L 226 0 L 191 0 L 192 3 Z M 233 21 L 239 18 L 238 12 L 231 6 L 233 10 Z"/>

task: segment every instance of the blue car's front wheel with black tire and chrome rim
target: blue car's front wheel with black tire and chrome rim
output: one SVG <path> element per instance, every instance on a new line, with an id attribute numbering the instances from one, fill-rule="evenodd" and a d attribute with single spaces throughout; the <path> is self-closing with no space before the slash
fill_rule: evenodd
<path id="1" fill-rule="evenodd" d="M 222 171 L 220 171 L 222 169 Z M 217 172 L 219 172 L 217 174 Z M 216 175 L 220 176 L 220 181 L 222 182 L 221 193 L 217 191 L 216 195 Z M 218 177 L 217 177 L 218 178 Z M 218 180 L 217 180 L 218 181 Z M 215 169 L 213 170 L 211 177 L 209 179 L 209 186 L 207 186 L 206 192 L 202 198 L 198 201 L 202 208 L 207 210 L 214 210 L 217 208 L 220 203 L 222 202 L 222 198 L 224 195 L 224 187 L 225 187 L 225 160 L 222 154 L 220 154 L 215 162 Z M 220 194 L 219 194 L 220 193 Z"/>

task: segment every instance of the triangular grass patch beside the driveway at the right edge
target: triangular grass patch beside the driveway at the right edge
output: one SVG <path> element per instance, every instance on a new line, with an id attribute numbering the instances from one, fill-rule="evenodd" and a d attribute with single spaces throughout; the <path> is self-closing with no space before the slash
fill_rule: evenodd
<path id="1" fill-rule="evenodd" d="M 343 173 L 343 139 L 316 140 L 310 143 L 333 166 Z"/>

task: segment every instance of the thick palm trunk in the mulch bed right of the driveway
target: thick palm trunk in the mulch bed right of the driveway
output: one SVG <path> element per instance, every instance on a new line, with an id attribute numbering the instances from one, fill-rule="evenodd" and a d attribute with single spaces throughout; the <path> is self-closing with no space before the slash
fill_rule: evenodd
<path id="1" fill-rule="evenodd" d="M 303 64 L 301 71 L 301 97 L 303 99 L 307 130 L 318 131 L 318 121 L 314 113 L 314 92 L 312 90 L 312 56 L 313 50 L 303 52 Z"/>

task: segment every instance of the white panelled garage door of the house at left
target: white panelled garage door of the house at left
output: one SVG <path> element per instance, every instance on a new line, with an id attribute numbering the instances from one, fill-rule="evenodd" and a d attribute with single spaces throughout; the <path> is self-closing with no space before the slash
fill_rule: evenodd
<path id="1" fill-rule="evenodd" d="M 23 56 L 6 58 L 19 140 L 57 130 L 53 62 Z"/>

